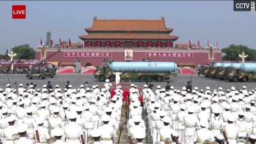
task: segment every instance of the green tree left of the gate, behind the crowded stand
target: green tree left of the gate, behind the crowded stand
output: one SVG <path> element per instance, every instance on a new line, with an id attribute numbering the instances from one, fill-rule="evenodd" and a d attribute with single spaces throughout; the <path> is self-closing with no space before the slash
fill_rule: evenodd
<path id="1" fill-rule="evenodd" d="M 36 51 L 29 47 L 29 44 L 13 47 L 12 50 L 14 53 L 17 53 L 14 59 L 35 59 L 36 57 Z"/>

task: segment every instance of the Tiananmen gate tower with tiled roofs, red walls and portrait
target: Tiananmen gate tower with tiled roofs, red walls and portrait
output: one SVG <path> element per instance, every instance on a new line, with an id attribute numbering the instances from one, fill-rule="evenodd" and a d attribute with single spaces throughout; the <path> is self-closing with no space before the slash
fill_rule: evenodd
<path id="1" fill-rule="evenodd" d="M 85 28 L 87 35 L 79 36 L 82 43 L 67 47 L 63 44 L 61 52 L 48 59 L 49 63 L 66 66 L 81 60 L 81 66 L 102 65 L 104 59 L 115 61 L 141 61 L 151 59 L 159 62 L 182 63 L 183 66 L 206 64 L 210 62 L 209 49 L 175 44 L 178 36 L 170 35 L 173 28 L 166 28 L 165 19 L 97 19 L 92 27 Z M 174 47 L 175 46 L 175 47 Z M 181 47 L 182 46 L 182 47 Z M 36 49 L 36 59 L 42 59 L 58 51 L 58 48 Z M 221 50 L 214 49 L 214 61 L 221 61 Z"/>

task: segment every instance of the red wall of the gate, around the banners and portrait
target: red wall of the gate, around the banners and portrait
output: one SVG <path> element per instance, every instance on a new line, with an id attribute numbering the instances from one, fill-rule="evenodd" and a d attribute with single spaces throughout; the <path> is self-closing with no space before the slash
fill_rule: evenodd
<path id="1" fill-rule="evenodd" d="M 47 57 L 50 56 L 54 52 L 55 51 L 47 51 Z M 71 51 L 66 51 L 66 52 L 71 52 Z M 81 49 L 81 51 L 76 50 L 76 52 L 85 52 L 85 49 Z M 91 51 L 91 52 L 93 52 L 93 51 Z M 109 50 L 109 51 L 104 51 L 104 52 L 111 52 L 111 51 Z M 146 52 L 148 52 L 148 51 L 146 51 Z M 166 52 L 166 51 L 154 51 L 154 52 Z M 177 52 L 177 51 L 175 51 L 175 52 Z M 182 52 L 186 52 L 186 51 L 183 50 Z M 189 51 L 189 52 L 191 53 L 191 51 Z M 125 61 L 124 55 L 125 55 L 124 51 L 112 52 L 112 58 L 114 58 L 115 61 Z M 152 59 L 152 61 L 159 61 L 159 62 L 161 62 L 161 61 L 176 62 L 176 63 L 178 63 L 178 62 L 194 62 L 196 65 L 197 64 L 203 65 L 203 64 L 209 63 L 208 51 L 193 52 L 193 55 L 194 55 L 193 58 L 150 57 L 150 59 Z M 221 52 L 215 52 L 214 57 L 215 57 L 214 61 L 221 61 L 222 60 Z M 57 62 L 58 61 L 60 66 L 62 66 L 62 62 L 74 62 L 75 58 L 81 59 L 82 67 L 85 67 L 86 63 L 91 63 L 92 66 L 102 65 L 102 61 L 104 58 L 110 59 L 111 57 L 64 57 L 64 52 L 62 51 L 62 52 L 55 54 L 55 56 L 48 59 L 48 61 L 49 62 Z M 136 62 L 136 61 L 140 61 L 141 59 L 147 59 L 147 58 L 148 57 L 145 57 L 145 52 L 133 51 L 133 61 Z M 36 51 L 36 59 L 40 59 L 40 51 Z"/>

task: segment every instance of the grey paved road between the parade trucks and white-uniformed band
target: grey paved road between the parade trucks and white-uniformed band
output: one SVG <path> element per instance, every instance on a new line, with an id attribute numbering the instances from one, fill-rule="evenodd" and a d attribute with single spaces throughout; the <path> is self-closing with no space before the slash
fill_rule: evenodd
<path id="1" fill-rule="evenodd" d="M 171 85 L 173 85 L 176 89 L 181 89 L 183 86 L 186 85 L 187 81 L 190 81 L 191 75 L 179 75 L 170 80 Z M 37 88 L 41 88 L 43 85 L 46 85 L 48 81 L 51 81 L 52 85 L 60 85 L 60 88 L 64 88 L 67 81 L 70 81 L 73 87 L 80 87 L 82 83 L 88 81 L 90 85 L 103 85 L 104 82 L 99 82 L 99 80 L 93 78 L 93 74 L 87 73 L 58 73 L 54 78 L 46 78 L 45 80 L 27 80 L 24 75 L 9 75 L 9 81 L 13 87 L 15 87 L 14 83 L 16 82 L 17 85 L 19 83 L 30 83 L 33 82 L 37 85 Z M 6 86 L 8 83 L 7 75 L 0 75 L 0 87 Z M 129 83 L 129 82 L 126 82 Z M 143 86 L 144 82 L 135 81 L 135 85 Z M 151 82 L 154 84 L 154 88 L 157 85 L 164 87 L 166 85 L 166 81 L 164 82 Z M 235 86 L 238 88 L 242 88 L 242 86 L 247 86 L 250 89 L 254 89 L 256 86 L 256 81 L 249 81 L 249 82 L 229 82 L 229 81 L 221 81 L 221 80 L 214 80 L 211 78 L 206 78 L 203 76 L 198 77 L 194 75 L 192 78 L 192 86 L 198 86 L 201 89 L 205 89 L 206 86 L 209 86 L 211 89 L 218 89 L 218 87 L 223 87 L 224 90 L 230 89 L 230 87 Z"/>

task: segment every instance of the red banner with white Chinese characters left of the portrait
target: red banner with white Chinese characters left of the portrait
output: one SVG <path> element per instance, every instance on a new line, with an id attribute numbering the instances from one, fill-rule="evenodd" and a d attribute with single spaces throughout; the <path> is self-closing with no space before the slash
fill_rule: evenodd
<path id="1" fill-rule="evenodd" d="M 64 52 L 64 57 L 112 57 L 112 52 Z"/>

